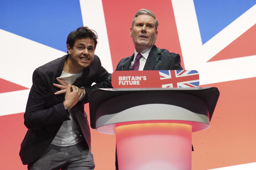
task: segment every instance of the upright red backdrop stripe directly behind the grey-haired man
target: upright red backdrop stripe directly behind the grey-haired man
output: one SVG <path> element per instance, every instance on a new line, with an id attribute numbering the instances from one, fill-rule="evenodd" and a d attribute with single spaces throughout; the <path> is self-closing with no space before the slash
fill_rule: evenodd
<path id="1" fill-rule="evenodd" d="M 122 58 L 131 56 L 134 53 L 134 45 L 129 36 L 130 28 L 134 15 L 142 8 L 154 12 L 156 19 L 159 21 L 155 45 L 158 48 L 168 49 L 169 52 L 178 53 L 182 58 L 171 1 L 113 0 L 110 2 L 102 0 L 102 3 L 114 70 Z M 181 65 L 184 68 L 183 60 Z"/>

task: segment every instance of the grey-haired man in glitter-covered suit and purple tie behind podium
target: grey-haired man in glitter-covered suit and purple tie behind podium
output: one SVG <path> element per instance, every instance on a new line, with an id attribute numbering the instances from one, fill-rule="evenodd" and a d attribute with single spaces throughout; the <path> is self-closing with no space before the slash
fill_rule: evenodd
<path id="1" fill-rule="evenodd" d="M 123 58 L 116 67 L 120 70 L 183 70 L 180 66 L 180 55 L 155 46 L 157 26 L 153 12 L 139 10 L 133 20 L 130 37 L 135 51 L 130 57 Z M 116 154 L 116 170 L 118 169 Z"/>

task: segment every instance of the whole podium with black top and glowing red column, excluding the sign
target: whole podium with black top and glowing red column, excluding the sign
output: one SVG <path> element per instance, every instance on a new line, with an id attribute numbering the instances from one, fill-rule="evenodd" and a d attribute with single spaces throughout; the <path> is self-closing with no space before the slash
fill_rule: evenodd
<path id="1" fill-rule="evenodd" d="M 90 123 L 116 134 L 119 170 L 189 170 L 191 133 L 210 126 L 218 97 L 215 87 L 95 89 Z"/>

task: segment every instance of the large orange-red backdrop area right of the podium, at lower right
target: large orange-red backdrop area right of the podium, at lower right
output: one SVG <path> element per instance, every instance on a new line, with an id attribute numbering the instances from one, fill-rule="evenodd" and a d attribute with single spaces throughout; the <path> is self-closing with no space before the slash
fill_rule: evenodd
<path id="1" fill-rule="evenodd" d="M 210 128 L 192 133 L 192 169 L 205 170 L 256 162 L 256 78 L 200 87 L 217 87 L 220 97 Z"/>

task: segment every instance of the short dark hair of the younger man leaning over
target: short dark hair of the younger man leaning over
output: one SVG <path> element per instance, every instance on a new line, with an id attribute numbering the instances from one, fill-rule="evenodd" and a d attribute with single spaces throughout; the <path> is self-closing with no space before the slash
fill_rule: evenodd
<path id="1" fill-rule="evenodd" d="M 67 45 L 69 45 L 70 48 L 73 49 L 76 40 L 81 40 L 85 38 L 90 38 L 94 41 L 95 49 L 98 43 L 98 35 L 96 31 L 90 29 L 89 27 L 79 27 L 76 29 L 76 31 L 70 32 L 67 38 Z"/>

